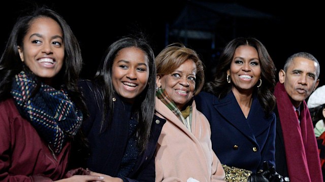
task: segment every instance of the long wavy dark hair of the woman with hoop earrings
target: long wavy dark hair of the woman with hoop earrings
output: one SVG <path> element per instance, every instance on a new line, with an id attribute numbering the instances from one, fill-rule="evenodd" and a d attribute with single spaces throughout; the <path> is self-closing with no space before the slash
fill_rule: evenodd
<path id="1" fill-rule="evenodd" d="M 259 63 L 261 65 L 261 87 L 254 86 L 254 91 L 257 93 L 257 98 L 261 103 L 265 114 L 269 115 L 276 104 L 276 99 L 273 95 L 274 86 L 276 84 L 276 68 L 265 46 L 253 37 L 238 37 L 231 40 L 224 48 L 220 55 L 219 62 L 216 67 L 214 80 L 206 83 L 204 90 L 223 98 L 231 92 L 233 83 L 229 84 L 226 80 L 227 70 L 230 69 L 236 49 L 240 45 L 250 45 L 255 48 L 258 53 Z M 259 82 L 257 82 L 259 83 Z"/>

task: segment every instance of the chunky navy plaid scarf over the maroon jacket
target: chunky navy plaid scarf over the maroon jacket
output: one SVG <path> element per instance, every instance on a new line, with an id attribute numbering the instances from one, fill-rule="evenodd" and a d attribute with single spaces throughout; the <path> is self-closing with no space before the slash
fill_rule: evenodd
<path id="1" fill-rule="evenodd" d="M 67 138 L 74 136 L 80 128 L 82 112 L 63 89 L 56 90 L 44 83 L 40 83 L 39 91 L 32 97 L 37 86 L 35 80 L 34 74 L 21 71 L 15 75 L 11 95 L 19 112 L 58 154 Z"/>

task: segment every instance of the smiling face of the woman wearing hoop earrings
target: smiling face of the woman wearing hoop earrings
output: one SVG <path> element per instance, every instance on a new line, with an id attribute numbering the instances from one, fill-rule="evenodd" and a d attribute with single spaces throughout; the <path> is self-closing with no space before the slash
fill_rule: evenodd
<path id="1" fill-rule="evenodd" d="M 233 91 L 239 93 L 252 93 L 255 84 L 261 76 L 258 53 L 250 45 L 239 46 L 233 56 L 230 70 L 227 74 L 231 76 Z"/>

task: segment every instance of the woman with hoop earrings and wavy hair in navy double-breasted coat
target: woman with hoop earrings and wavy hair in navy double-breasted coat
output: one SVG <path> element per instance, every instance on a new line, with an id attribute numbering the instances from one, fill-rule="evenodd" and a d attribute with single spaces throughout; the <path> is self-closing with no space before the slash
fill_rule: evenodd
<path id="1" fill-rule="evenodd" d="M 255 38 L 236 38 L 223 50 L 215 79 L 194 99 L 211 125 L 221 163 L 256 173 L 275 165 L 276 68 Z"/>

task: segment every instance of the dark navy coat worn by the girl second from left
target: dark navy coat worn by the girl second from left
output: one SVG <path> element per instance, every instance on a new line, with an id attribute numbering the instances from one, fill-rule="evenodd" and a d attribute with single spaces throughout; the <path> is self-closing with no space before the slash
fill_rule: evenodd
<path id="1" fill-rule="evenodd" d="M 98 108 L 90 82 L 80 81 L 79 84 L 86 97 L 86 104 L 90 112 L 90 118 L 82 125 L 90 145 L 90 154 L 86 167 L 91 171 L 116 177 L 128 142 L 132 106 L 116 98 L 111 127 L 105 132 L 100 133 L 103 108 Z M 165 119 L 154 116 L 149 144 L 146 150 L 139 154 L 133 171 L 126 176 L 127 181 L 152 182 L 155 180 L 154 152 L 165 122 Z"/>

